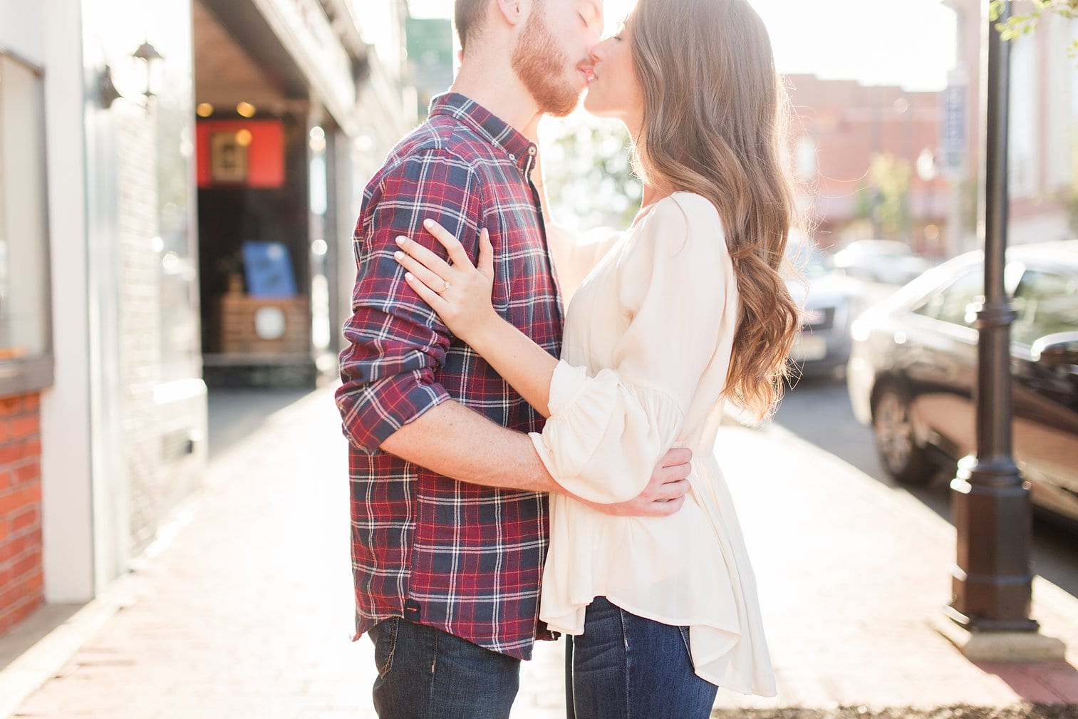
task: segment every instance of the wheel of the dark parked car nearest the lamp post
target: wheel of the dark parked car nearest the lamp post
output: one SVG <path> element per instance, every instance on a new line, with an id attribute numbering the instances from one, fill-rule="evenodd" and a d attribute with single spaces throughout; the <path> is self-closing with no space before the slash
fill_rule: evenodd
<path id="1" fill-rule="evenodd" d="M 903 484 L 931 481 L 936 467 L 914 438 L 909 400 L 894 385 L 880 388 L 872 401 L 872 433 L 888 474 Z"/>

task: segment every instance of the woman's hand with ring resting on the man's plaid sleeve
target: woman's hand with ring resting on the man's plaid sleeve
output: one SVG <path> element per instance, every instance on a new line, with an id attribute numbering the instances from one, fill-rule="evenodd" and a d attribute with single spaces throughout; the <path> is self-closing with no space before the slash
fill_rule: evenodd
<path id="1" fill-rule="evenodd" d="M 500 321 L 490 296 L 494 291 L 494 247 L 484 227 L 479 240 L 479 266 L 445 227 L 426 220 L 424 227 L 448 253 L 452 264 L 407 237 L 398 237 L 395 253 L 405 272 L 404 280 L 460 340 L 472 338 Z"/>

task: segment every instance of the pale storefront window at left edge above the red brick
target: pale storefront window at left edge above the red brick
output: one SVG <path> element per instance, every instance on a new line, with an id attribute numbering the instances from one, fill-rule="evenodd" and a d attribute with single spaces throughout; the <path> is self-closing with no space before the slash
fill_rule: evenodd
<path id="1" fill-rule="evenodd" d="M 51 384 L 44 98 L 0 54 L 0 396 Z"/>

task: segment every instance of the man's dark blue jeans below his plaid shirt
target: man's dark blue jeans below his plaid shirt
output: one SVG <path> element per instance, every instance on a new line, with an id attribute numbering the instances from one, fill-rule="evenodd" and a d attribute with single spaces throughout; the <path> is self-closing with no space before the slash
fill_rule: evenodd
<path id="1" fill-rule="evenodd" d="M 369 632 L 378 678 L 381 719 L 507 719 L 521 683 L 521 662 L 403 619 Z"/>

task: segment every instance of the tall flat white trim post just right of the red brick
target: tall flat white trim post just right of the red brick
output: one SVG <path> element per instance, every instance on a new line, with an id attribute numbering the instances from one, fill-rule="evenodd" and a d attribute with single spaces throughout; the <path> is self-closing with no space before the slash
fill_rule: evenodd
<path id="1" fill-rule="evenodd" d="M 44 0 L 54 386 L 42 393 L 45 600 L 94 596 L 82 8 Z"/>

